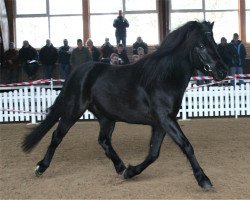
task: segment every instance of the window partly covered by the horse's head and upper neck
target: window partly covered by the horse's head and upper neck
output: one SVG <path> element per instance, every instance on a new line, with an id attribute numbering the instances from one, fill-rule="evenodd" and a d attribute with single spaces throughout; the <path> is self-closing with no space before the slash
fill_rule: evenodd
<path id="1" fill-rule="evenodd" d="M 239 32 L 238 0 L 172 0 L 170 16 L 170 30 L 190 20 L 215 22 L 216 42 L 220 42 L 221 37 L 230 41 L 233 33 Z"/>

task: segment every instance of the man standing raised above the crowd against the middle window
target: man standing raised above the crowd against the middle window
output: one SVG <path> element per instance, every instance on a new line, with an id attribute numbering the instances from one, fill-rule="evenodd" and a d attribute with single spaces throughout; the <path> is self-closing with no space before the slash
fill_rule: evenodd
<path id="1" fill-rule="evenodd" d="M 129 27 L 129 23 L 128 20 L 123 17 L 121 10 L 119 10 L 119 16 L 114 20 L 113 26 L 116 28 L 115 37 L 117 46 L 120 44 L 120 41 L 122 41 L 124 48 L 126 48 L 126 28 Z"/>

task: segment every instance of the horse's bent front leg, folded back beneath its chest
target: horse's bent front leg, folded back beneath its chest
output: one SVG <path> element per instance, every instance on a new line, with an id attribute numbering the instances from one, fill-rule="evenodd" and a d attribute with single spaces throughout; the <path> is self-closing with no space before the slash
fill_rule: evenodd
<path id="1" fill-rule="evenodd" d="M 140 174 L 159 157 L 161 144 L 165 135 L 166 133 L 161 127 L 153 127 L 148 156 L 141 164 L 137 166 L 128 166 L 123 175 L 125 179 Z"/>

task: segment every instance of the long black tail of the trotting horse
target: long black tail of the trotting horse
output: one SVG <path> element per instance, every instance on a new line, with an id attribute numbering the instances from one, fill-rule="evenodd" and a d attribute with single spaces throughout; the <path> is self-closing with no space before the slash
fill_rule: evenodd
<path id="1" fill-rule="evenodd" d="M 62 94 L 56 98 L 54 104 L 49 108 L 49 113 L 38 127 L 32 130 L 32 132 L 24 137 L 22 143 L 22 149 L 24 152 L 31 152 L 33 148 L 40 142 L 40 140 L 46 135 L 46 133 L 56 124 L 61 116 L 62 110 Z"/>

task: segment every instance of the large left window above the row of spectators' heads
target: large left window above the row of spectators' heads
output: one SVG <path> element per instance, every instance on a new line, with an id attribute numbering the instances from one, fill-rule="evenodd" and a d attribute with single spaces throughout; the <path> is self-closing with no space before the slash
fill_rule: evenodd
<path id="1" fill-rule="evenodd" d="M 16 33 L 17 48 L 23 40 L 41 48 L 48 38 L 55 47 L 65 38 L 76 46 L 83 38 L 82 0 L 16 0 Z"/>

